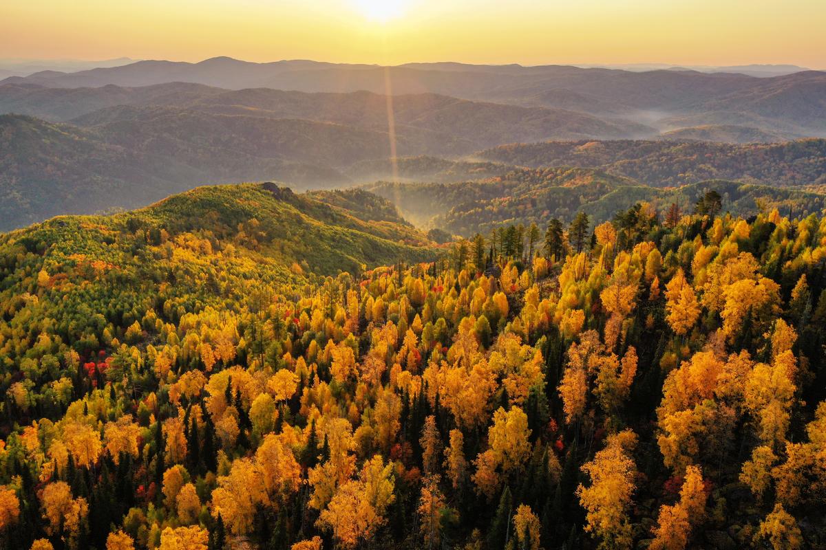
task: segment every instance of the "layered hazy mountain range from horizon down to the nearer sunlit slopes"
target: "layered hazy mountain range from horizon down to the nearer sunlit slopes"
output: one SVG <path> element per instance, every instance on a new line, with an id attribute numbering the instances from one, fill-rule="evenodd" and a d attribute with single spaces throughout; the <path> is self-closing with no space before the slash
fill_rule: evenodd
<path id="1" fill-rule="evenodd" d="M 822 135 L 817 71 L 229 58 L 45 71 L 0 82 L 0 229 L 238 181 L 330 189 L 586 167 L 650 187 L 817 190 Z"/>

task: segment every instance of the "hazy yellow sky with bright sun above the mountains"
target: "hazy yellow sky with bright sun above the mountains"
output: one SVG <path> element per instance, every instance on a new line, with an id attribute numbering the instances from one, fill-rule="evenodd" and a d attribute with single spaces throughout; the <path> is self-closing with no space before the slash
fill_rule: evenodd
<path id="1" fill-rule="evenodd" d="M 0 58 L 796 63 L 826 0 L 0 0 Z"/>

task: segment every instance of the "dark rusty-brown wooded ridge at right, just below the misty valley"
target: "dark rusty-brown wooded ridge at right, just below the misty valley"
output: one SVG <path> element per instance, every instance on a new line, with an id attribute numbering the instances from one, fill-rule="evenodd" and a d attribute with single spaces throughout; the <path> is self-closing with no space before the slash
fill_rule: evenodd
<path id="1" fill-rule="evenodd" d="M 657 187 L 709 179 L 805 186 L 823 183 L 826 139 L 748 145 L 643 140 L 514 143 L 474 157 L 527 167 L 598 167 Z"/>

